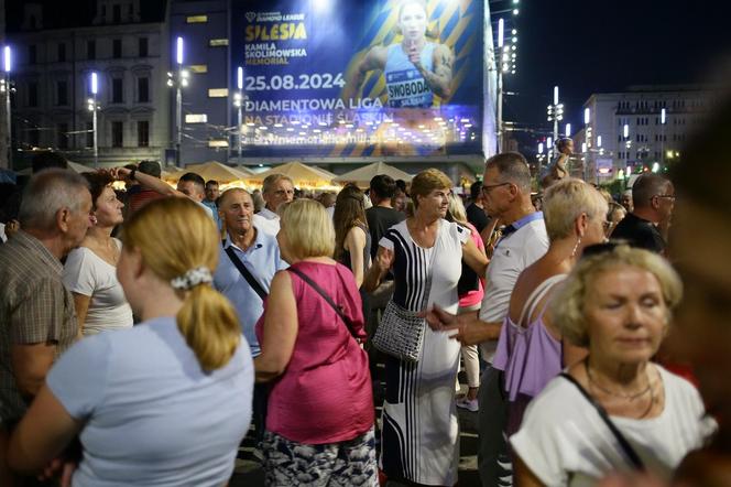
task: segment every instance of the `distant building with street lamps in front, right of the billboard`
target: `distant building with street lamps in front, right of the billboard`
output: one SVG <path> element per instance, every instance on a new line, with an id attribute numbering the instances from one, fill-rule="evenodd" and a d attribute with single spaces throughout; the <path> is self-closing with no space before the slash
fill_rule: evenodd
<path id="1" fill-rule="evenodd" d="M 672 85 L 591 95 L 583 105 L 589 123 L 574 137 L 577 158 L 588 162 L 587 177 L 611 181 L 655 164 L 658 171 L 667 167 L 703 122 L 713 93 L 706 86 Z"/>

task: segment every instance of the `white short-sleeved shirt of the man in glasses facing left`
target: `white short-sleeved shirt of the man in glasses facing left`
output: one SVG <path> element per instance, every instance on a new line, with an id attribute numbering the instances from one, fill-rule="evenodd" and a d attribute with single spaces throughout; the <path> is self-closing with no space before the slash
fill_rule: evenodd
<path id="1" fill-rule="evenodd" d="M 484 296 L 480 306 L 480 320 L 483 322 L 502 323 L 505 320 L 517 277 L 548 250 L 543 214 L 535 213 L 530 218 L 536 219 L 500 239 L 495 247 L 488 264 Z M 498 340 L 483 342 L 480 346 L 482 359 L 492 364 Z"/>

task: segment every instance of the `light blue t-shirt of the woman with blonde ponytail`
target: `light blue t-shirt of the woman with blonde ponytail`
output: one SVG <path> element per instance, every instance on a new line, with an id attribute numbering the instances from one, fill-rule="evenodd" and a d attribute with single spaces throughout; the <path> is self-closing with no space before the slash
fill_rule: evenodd
<path id="1" fill-rule="evenodd" d="M 79 486 L 220 486 L 251 420 L 253 362 L 243 339 L 204 372 L 174 317 L 87 337 L 46 383 L 84 422 Z"/>

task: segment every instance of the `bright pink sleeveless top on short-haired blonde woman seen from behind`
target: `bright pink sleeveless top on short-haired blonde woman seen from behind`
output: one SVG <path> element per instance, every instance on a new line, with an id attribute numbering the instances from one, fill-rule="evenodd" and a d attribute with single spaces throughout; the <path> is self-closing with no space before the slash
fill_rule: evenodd
<path id="1" fill-rule="evenodd" d="M 348 268 L 304 261 L 293 268 L 342 306 L 354 335 L 366 338 L 360 294 Z M 317 291 L 295 273 L 290 278 L 297 302 L 297 338 L 284 374 L 272 383 L 266 430 L 305 444 L 352 440 L 373 426 L 368 355 Z M 257 323 L 261 344 L 268 305 L 266 300 Z"/>

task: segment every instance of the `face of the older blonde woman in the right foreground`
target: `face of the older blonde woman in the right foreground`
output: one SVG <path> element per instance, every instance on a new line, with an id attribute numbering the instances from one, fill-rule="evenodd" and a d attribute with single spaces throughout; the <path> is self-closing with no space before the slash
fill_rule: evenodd
<path id="1" fill-rule="evenodd" d="M 659 348 L 668 311 L 653 273 L 620 266 L 589 283 L 585 315 L 592 357 L 639 364 L 650 360 Z"/>

